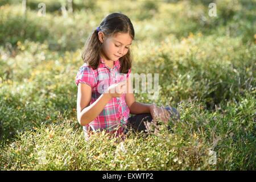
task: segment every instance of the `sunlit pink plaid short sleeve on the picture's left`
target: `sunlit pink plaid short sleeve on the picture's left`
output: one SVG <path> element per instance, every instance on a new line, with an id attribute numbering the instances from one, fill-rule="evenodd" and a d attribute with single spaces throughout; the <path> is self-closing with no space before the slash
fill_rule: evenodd
<path id="1" fill-rule="evenodd" d="M 88 67 L 88 65 L 83 65 L 79 68 L 76 75 L 76 86 L 78 86 L 79 83 L 87 84 L 91 88 L 95 86 L 96 81 L 94 79 L 94 74 L 92 68 Z"/>

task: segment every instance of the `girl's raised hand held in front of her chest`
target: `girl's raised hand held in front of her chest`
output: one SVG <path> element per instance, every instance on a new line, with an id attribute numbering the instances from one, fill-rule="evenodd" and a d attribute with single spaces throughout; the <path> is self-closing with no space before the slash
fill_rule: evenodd
<path id="1" fill-rule="evenodd" d="M 112 98 L 121 97 L 126 90 L 126 84 L 127 84 L 126 81 L 121 81 L 113 85 L 110 85 L 109 88 L 106 89 L 105 93 L 110 94 Z"/>

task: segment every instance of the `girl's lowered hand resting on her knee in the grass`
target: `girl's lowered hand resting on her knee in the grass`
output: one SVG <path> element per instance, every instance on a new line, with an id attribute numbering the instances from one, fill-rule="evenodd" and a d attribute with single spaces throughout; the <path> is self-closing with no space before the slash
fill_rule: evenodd
<path id="1" fill-rule="evenodd" d="M 156 106 L 155 104 L 150 106 L 150 114 L 154 122 L 160 119 L 164 123 L 168 123 L 168 120 L 171 117 L 171 114 L 168 110 L 164 109 L 164 107 Z"/>

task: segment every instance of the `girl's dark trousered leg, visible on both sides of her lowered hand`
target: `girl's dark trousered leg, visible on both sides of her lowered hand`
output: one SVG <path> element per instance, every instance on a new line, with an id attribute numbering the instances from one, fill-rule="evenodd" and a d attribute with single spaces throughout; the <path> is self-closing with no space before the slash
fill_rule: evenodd
<path id="1" fill-rule="evenodd" d="M 180 114 L 174 107 L 164 107 L 171 113 L 171 118 L 179 120 Z M 129 118 L 129 121 L 127 123 L 127 127 L 130 130 L 133 130 L 135 132 L 140 133 L 141 131 L 144 131 L 146 133 L 146 126 L 144 125 L 144 122 L 151 122 L 152 116 L 150 113 L 147 114 L 137 114 Z M 125 131 L 127 133 L 127 130 Z"/>

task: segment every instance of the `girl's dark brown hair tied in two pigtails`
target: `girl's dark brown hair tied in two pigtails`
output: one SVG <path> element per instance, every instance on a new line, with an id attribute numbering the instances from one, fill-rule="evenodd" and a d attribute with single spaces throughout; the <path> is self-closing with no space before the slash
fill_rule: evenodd
<path id="1" fill-rule="evenodd" d="M 112 13 L 106 16 L 100 24 L 100 31 L 103 32 L 106 37 L 114 36 L 118 32 L 128 33 L 134 40 L 133 24 L 126 15 L 121 13 Z M 100 65 L 100 53 L 104 55 L 102 43 L 98 39 L 98 31 L 95 28 L 92 35 L 90 35 L 86 41 L 84 50 L 82 51 L 82 60 L 93 69 L 97 69 Z M 125 56 L 119 58 L 119 62 L 121 64 L 119 72 L 128 73 L 131 68 L 130 49 L 128 49 Z"/>

